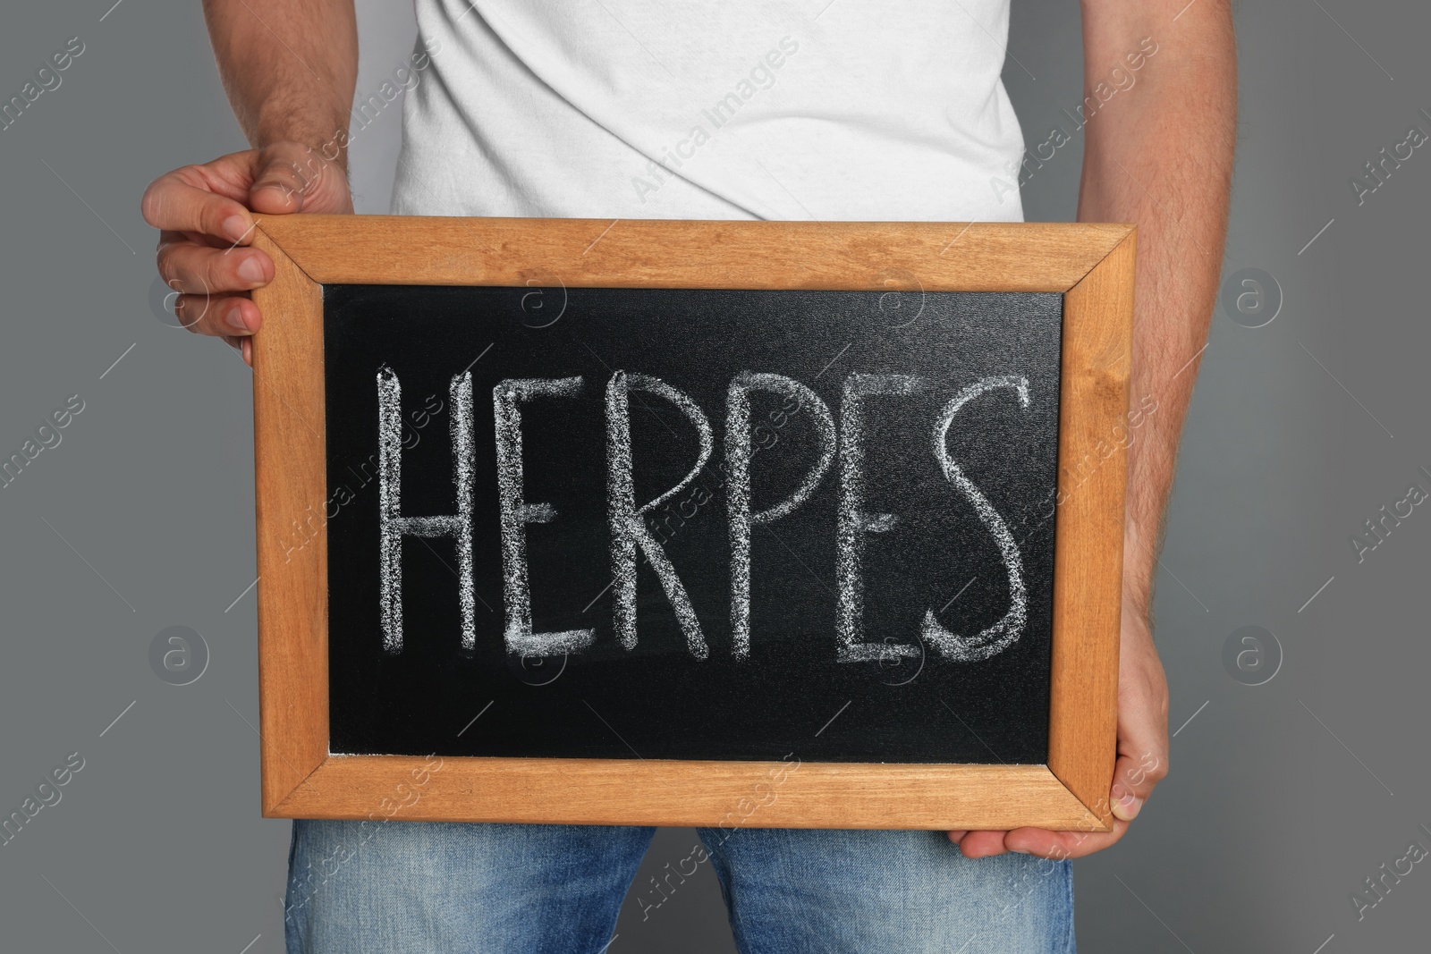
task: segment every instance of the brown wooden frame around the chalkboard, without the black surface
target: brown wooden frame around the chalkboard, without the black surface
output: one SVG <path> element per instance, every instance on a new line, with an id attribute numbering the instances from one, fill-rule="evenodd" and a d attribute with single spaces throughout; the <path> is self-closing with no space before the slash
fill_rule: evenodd
<path id="1" fill-rule="evenodd" d="M 1135 229 L 260 216 L 253 293 L 263 814 L 283 818 L 1108 831 Z M 1046 765 L 444 757 L 328 749 L 326 536 L 283 539 L 328 495 L 322 285 L 1063 293 Z M 773 797 L 770 792 L 774 792 Z"/>

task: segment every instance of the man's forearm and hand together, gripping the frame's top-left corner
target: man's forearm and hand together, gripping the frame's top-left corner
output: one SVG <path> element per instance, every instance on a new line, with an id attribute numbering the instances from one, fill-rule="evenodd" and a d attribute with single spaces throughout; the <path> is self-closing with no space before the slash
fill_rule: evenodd
<path id="1" fill-rule="evenodd" d="M 253 363 L 259 309 L 273 280 L 253 215 L 352 212 L 348 110 L 358 82 L 353 0 L 203 0 L 233 114 L 253 149 L 160 176 L 145 190 L 159 229 L 159 275 L 179 292 L 185 328 Z"/>

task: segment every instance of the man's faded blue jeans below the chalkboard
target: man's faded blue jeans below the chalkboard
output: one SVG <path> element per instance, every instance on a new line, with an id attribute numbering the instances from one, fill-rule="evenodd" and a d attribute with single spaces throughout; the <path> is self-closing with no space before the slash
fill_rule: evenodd
<path id="1" fill-rule="evenodd" d="M 598 954 L 654 832 L 295 821 L 288 951 Z M 1073 951 L 1068 861 L 975 861 L 933 831 L 698 834 L 664 878 L 710 864 L 743 954 Z"/>

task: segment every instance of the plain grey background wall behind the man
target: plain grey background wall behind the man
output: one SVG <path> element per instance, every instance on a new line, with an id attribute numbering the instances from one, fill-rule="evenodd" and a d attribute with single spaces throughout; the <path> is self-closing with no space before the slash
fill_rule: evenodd
<path id="1" fill-rule="evenodd" d="M 408 4 L 359 6 L 365 93 L 409 53 L 412 20 Z M 1431 515 L 1417 508 L 1361 564 L 1348 535 L 1412 481 L 1431 486 L 1417 475 L 1431 468 L 1431 153 L 1361 206 L 1348 176 L 1412 123 L 1431 130 L 1418 114 L 1431 109 L 1431 14 L 1284 0 L 1236 19 L 1224 275 L 1259 267 L 1285 300 L 1265 328 L 1213 319 L 1158 576 L 1172 775 L 1130 837 L 1078 862 L 1079 943 L 1417 948 L 1427 865 L 1361 921 L 1348 895 L 1408 842 L 1431 847 L 1418 831 L 1431 824 Z M 137 212 L 153 176 L 245 143 L 197 4 L 13 4 L 0 21 L 4 99 L 69 37 L 86 44 L 0 132 L 3 456 L 67 396 L 84 400 L 62 443 L 0 491 L 3 814 L 69 752 L 84 758 L 62 801 L 0 848 L 0 945 L 280 951 L 289 824 L 259 818 L 253 728 L 250 376 L 156 318 L 156 236 Z M 1169 56 L 1176 29 L 1155 36 Z M 1006 79 L 1030 146 L 1080 99 L 1078 37 L 1070 0 L 1015 0 Z M 389 109 L 358 140 L 362 212 L 386 207 L 398 120 Z M 1030 220 L 1073 216 L 1080 147 L 1079 133 L 1029 180 Z M 1249 624 L 1285 654 L 1261 687 L 1222 665 L 1224 641 Z M 187 687 L 149 667 L 170 625 L 199 631 L 212 655 Z M 693 838 L 663 831 L 647 865 L 685 857 Z M 612 953 L 733 950 L 708 874 L 644 923 L 628 900 L 617 934 Z"/>

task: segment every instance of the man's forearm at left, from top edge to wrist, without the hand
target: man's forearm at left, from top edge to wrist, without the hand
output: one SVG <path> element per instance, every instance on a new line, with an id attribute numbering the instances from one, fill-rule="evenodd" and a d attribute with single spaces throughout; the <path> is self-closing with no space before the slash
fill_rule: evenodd
<path id="1" fill-rule="evenodd" d="M 249 143 L 303 143 L 346 169 L 358 82 L 353 0 L 205 0 L 203 13 Z"/>

